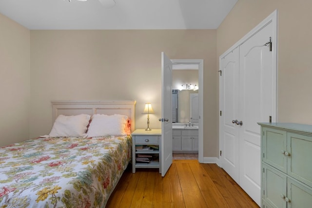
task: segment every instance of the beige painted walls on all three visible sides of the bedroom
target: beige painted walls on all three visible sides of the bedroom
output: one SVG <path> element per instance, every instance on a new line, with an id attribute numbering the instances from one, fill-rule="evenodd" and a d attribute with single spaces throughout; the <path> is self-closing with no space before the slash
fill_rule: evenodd
<path id="1" fill-rule="evenodd" d="M 151 115 L 151 128 L 160 128 L 160 52 L 164 51 L 173 59 L 204 59 L 204 156 L 216 157 L 218 57 L 275 9 L 279 13 L 278 121 L 312 124 L 311 8 L 309 0 L 238 0 L 217 30 L 29 32 L 0 15 L 0 111 L 6 118 L 0 124 L 5 138 L 1 144 L 13 141 L 6 138 L 27 135 L 28 118 L 30 137 L 48 133 L 54 99 L 137 100 L 136 128 L 145 128 L 141 112 L 145 102 L 152 102 L 156 113 Z"/>

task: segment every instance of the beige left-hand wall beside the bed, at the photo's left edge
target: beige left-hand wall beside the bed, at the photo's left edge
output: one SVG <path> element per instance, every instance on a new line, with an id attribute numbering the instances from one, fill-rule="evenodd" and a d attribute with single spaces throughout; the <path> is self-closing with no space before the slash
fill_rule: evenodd
<path id="1" fill-rule="evenodd" d="M 27 139 L 30 32 L 0 14 L 0 146 Z"/>

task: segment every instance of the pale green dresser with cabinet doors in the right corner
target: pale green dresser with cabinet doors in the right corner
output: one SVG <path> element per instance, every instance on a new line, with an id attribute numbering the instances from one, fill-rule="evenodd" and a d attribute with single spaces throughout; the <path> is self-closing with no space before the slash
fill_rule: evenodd
<path id="1" fill-rule="evenodd" d="M 261 208 L 312 208 L 312 125 L 261 126 Z"/>

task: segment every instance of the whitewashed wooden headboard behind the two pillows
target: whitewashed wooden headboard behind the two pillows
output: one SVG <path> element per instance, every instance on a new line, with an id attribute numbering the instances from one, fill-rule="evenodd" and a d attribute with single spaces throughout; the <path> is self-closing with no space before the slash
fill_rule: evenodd
<path id="1" fill-rule="evenodd" d="M 78 101 L 53 100 L 53 122 L 60 115 L 78 115 L 81 113 L 93 115 L 96 113 L 127 115 L 131 119 L 131 132 L 135 130 L 136 101 Z"/>

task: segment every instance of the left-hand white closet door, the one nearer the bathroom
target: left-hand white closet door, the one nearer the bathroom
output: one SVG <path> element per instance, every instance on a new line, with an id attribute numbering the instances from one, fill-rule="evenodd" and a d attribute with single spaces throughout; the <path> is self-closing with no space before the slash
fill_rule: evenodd
<path id="1" fill-rule="evenodd" d="M 220 139 L 222 168 L 239 184 L 239 128 L 232 121 L 239 113 L 239 48 L 221 60 Z"/>

